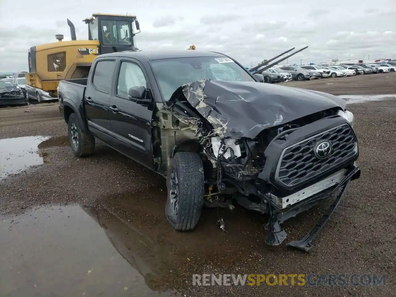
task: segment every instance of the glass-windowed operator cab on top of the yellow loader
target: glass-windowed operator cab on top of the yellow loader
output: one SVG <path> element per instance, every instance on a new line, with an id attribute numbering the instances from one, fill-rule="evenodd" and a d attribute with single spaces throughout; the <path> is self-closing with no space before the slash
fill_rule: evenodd
<path id="1" fill-rule="evenodd" d="M 99 41 L 99 54 L 137 49 L 135 35 L 140 26 L 135 15 L 95 13 L 84 22 L 88 24 L 88 40 Z"/>

